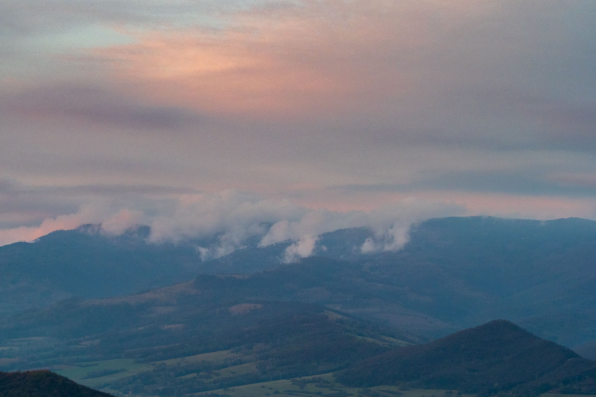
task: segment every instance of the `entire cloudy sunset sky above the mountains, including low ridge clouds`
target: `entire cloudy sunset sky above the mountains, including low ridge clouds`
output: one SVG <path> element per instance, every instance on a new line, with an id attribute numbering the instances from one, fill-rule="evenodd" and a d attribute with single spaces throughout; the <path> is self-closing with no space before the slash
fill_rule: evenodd
<path id="1" fill-rule="evenodd" d="M 593 0 L 5 0 L 0 55 L 0 245 L 596 219 Z"/>

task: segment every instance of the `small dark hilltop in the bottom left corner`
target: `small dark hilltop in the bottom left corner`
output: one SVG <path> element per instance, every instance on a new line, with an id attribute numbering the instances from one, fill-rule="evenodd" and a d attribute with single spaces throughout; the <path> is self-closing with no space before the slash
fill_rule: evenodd
<path id="1" fill-rule="evenodd" d="M 50 371 L 0 372 L 0 397 L 111 397 Z"/>

